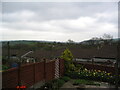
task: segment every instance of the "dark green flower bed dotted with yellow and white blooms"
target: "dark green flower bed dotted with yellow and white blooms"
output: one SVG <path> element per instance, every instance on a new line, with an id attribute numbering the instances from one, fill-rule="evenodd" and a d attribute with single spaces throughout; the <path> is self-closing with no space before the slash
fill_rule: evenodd
<path id="1" fill-rule="evenodd" d="M 95 81 L 109 82 L 111 84 L 115 84 L 114 83 L 115 75 L 100 70 L 87 70 L 85 68 L 80 72 L 73 71 L 73 72 L 65 73 L 65 75 L 69 76 L 72 79 L 87 79 L 87 80 L 95 80 Z"/>

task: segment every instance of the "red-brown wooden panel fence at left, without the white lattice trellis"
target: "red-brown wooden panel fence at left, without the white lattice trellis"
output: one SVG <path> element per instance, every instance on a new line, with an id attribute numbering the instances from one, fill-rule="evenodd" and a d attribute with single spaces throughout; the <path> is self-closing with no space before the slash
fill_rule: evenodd
<path id="1" fill-rule="evenodd" d="M 59 75 L 64 74 L 64 60 L 59 59 Z M 59 77 L 60 77 L 59 76 Z M 16 88 L 19 80 L 22 85 L 30 87 L 39 81 L 49 81 L 55 78 L 55 60 L 42 61 L 22 65 L 2 72 L 2 88 Z"/>

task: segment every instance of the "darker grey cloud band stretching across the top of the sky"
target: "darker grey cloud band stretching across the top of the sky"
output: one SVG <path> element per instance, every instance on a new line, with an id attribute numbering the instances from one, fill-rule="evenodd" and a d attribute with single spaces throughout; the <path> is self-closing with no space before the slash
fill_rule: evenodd
<path id="1" fill-rule="evenodd" d="M 3 3 L 3 13 L 30 10 L 38 14 L 37 20 L 75 19 L 79 16 L 93 16 L 95 13 L 111 12 L 115 3 Z"/>

